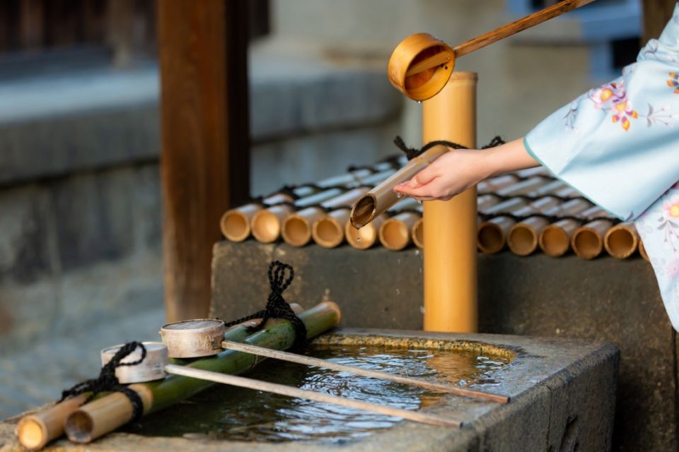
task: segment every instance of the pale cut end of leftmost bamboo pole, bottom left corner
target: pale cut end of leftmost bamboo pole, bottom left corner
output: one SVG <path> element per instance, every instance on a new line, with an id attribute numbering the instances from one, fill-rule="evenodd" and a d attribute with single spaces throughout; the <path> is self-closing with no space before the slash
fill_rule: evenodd
<path id="1" fill-rule="evenodd" d="M 85 394 L 64 400 L 42 412 L 24 416 L 16 425 L 16 437 L 24 448 L 37 451 L 64 434 L 66 418 L 87 400 Z"/>

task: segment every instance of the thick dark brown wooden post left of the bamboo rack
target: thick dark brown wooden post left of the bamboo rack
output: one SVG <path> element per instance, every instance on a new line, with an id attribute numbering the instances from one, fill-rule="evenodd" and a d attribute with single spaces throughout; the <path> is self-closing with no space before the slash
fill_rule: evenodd
<path id="1" fill-rule="evenodd" d="M 168 321 L 207 316 L 219 218 L 249 192 L 247 3 L 158 1 Z"/>

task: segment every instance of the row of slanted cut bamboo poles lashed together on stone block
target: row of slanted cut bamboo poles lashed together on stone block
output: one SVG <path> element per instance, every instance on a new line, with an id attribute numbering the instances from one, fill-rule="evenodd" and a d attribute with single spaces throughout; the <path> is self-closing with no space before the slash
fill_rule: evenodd
<path id="1" fill-rule="evenodd" d="M 400 198 L 360 229 L 349 221 L 352 205 L 393 179 L 406 164 L 405 157 L 390 157 L 286 188 L 226 211 L 221 232 L 231 242 L 253 237 L 291 246 L 315 242 L 329 249 L 344 243 L 359 250 L 380 245 L 392 251 L 422 249 L 422 205 L 412 198 Z M 648 260 L 632 222 L 619 222 L 542 167 L 481 182 L 477 206 L 477 245 L 484 254 L 509 249 L 517 256 L 542 252 L 559 257 L 572 252 L 584 259 L 602 254 L 625 259 L 639 251 Z"/>

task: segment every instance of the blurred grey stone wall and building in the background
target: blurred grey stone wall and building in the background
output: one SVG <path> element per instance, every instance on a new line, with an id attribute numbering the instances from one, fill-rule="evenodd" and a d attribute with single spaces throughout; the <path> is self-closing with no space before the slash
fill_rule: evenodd
<path id="1" fill-rule="evenodd" d="M 252 194 L 374 162 L 397 134 L 420 143 L 420 107 L 385 73 L 407 35 L 456 44 L 550 3 L 250 1 Z M 639 10 L 599 0 L 460 59 L 480 77 L 480 144 L 634 61 Z M 155 1 L 0 2 L 0 352 L 162 318 L 156 54 Z"/>

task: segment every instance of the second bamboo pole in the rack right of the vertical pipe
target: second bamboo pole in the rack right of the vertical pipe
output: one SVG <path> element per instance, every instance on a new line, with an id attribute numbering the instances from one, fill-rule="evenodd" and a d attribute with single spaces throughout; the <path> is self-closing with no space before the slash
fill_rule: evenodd
<path id="1" fill-rule="evenodd" d="M 558 193 L 559 191 L 557 191 Z M 560 196 L 560 195 L 557 195 Z M 560 206 L 554 206 L 542 212 L 543 215 L 575 215 L 581 210 L 590 207 L 591 204 L 580 198 L 566 201 Z M 545 227 L 550 225 L 550 221 L 544 216 L 534 216 L 526 218 L 521 222 L 513 225 L 507 234 L 507 244 L 513 254 L 517 256 L 528 256 L 533 254 L 533 251 L 538 248 L 540 242 L 540 235 Z M 568 249 L 568 240 L 565 239 L 566 250 Z M 565 251 L 562 251 L 565 252 Z"/>

